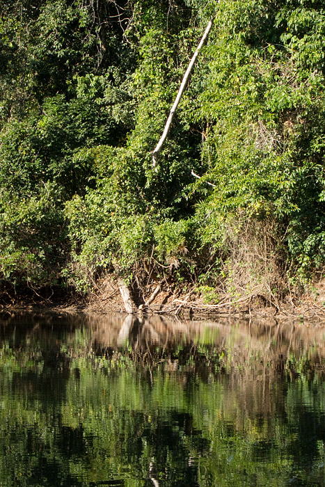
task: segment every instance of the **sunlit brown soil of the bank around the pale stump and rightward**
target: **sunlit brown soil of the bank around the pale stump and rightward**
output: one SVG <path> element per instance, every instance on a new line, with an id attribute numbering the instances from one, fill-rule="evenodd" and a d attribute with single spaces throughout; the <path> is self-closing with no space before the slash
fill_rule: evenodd
<path id="1" fill-rule="evenodd" d="M 244 315 L 244 316 L 265 316 L 265 317 L 296 317 L 325 319 L 325 279 L 313 287 L 312 292 L 301 296 L 286 296 L 283 301 L 273 295 L 248 294 L 239 298 L 230 298 L 221 294 L 217 303 L 207 303 L 204 296 L 198 293 L 195 286 L 183 287 L 161 285 L 152 282 L 152 285 L 145 289 L 142 300 L 139 300 L 138 292 L 132 293 L 134 298 L 134 312 L 145 312 L 148 314 L 173 314 L 188 317 L 195 314 L 200 315 Z M 152 302 L 150 297 L 157 292 Z M 150 304 L 145 305 L 145 302 Z M 86 309 L 91 312 L 124 312 L 124 305 L 116 280 L 107 277 L 97 289 L 97 294 L 89 296 Z"/>

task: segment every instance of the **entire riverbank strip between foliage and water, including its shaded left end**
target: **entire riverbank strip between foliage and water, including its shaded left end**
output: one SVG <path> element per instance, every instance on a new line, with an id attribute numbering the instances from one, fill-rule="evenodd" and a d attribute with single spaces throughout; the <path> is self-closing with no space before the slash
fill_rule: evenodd
<path id="1" fill-rule="evenodd" d="M 3 289 L 0 310 L 15 308 L 58 308 L 87 312 L 125 313 L 120 282 L 110 275 L 99 280 L 86 296 L 67 289 Z M 257 290 L 240 296 L 226 292 L 207 294 L 196 285 L 168 285 L 152 281 L 145 289 L 126 286 L 134 314 L 170 314 L 176 317 L 207 317 L 231 314 L 244 317 L 293 317 L 325 319 L 325 279 L 305 292 L 287 293 L 278 298 L 271 289 Z"/>

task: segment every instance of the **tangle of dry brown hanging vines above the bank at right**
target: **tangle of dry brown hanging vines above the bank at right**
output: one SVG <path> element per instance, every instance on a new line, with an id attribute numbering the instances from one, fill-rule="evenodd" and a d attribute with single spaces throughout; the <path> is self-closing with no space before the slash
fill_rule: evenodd
<path id="1" fill-rule="evenodd" d="M 274 221 L 251 219 L 228 226 L 221 259 L 221 287 L 230 305 L 271 306 L 281 311 L 288 294 L 280 232 Z M 259 306 L 259 307 L 260 307 Z"/>

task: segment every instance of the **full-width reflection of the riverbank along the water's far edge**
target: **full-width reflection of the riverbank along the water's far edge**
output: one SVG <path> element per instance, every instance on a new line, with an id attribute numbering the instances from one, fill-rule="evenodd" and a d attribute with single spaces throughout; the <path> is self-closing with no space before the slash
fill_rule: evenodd
<path id="1" fill-rule="evenodd" d="M 179 320 L 172 317 L 139 317 L 124 314 L 38 312 L 0 314 L 0 342 L 14 348 L 33 342 L 53 348 L 64 341 L 79 349 L 100 353 L 127 348 L 134 353 L 165 353 L 183 347 L 195 352 L 205 346 L 225 353 L 231 362 L 287 362 L 304 357 L 322 368 L 325 357 L 325 326 L 322 323 L 274 319 Z M 231 357 L 230 357 L 231 356 Z"/>

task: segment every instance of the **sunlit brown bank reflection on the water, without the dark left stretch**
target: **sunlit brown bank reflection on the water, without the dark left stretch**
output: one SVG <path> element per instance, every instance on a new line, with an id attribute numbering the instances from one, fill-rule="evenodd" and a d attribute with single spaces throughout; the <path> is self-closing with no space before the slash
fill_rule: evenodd
<path id="1" fill-rule="evenodd" d="M 134 351 L 175 349 L 175 346 L 205 344 L 235 353 L 238 359 L 260 353 L 261 360 L 290 360 L 292 353 L 321 365 L 325 356 L 325 326 L 300 321 L 217 318 L 186 321 L 166 317 L 85 317 L 93 344 Z"/>

